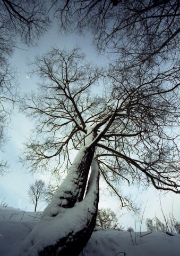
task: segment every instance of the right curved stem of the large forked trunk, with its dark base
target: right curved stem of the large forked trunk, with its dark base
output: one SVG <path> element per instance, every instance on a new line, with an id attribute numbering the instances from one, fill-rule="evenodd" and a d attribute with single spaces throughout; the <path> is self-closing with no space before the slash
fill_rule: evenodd
<path id="1" fill-rule="evenodd" d="M 59 220 L 62 223 L 62 229 L 59 222 L 60 234 L 57 242 L 45 246 L 39 252 L 40 256 L 78 256 L 89 241 L 96 225 L 99 202 L 99 170 L 95 160 L 92 162 L 91 169 L 88 189 L 84 199 L 81 202 L 77 202 L 72 209 L 66 209 L 64 218 Z M 58 221 L 58 217 L 55 218 Z"/>

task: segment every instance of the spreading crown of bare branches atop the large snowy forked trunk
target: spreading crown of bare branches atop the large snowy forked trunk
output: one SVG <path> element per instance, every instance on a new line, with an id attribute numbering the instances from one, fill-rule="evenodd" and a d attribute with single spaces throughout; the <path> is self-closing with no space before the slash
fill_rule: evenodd
<path id="1" fill-rule="evenodd" d="M 54 171 L 64 162 L 68 170 L 70 150 L 84 145 L 91 127 L 101 175 L 123 206 L 122 180 L 178 193 L 177 69 L 144 65 L 117 73 L 88 65 L 78 49 L 53 49 L 33 65 L 42 83 L 23 106 L 37 118 L 24 155 L 31 170 L 49 169 L 52 159 Z M 98 86 L 105 86 L 102 94 L 93 92 Z"/>

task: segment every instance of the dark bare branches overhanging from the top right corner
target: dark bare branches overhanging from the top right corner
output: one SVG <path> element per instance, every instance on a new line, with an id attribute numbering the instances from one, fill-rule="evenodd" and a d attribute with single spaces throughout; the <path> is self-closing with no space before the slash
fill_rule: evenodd
<path id="1" fill-rule="evenodd" d="M 99 51 L 108 48 L 111 54 L 118 54 L 119 61 L 126 55 L 127 66 L 176 55 L 169 52 L 179 43 L 177 0 L 64 0 L 54 5 L 63 30 L 82 33 L 88 28 Z"/>

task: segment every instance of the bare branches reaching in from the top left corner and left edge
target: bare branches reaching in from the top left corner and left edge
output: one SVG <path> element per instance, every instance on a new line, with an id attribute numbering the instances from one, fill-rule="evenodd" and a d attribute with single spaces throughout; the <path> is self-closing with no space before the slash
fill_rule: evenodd
<path id="1" fill-rule="evenodd" d="M 2 150 L 7 139 L 11 108 L 18 100 L 16 70 L 11 67 L 9 60 L 18 38 L 22 43 L 34 45 L 36 39 L 49 27 L 44 1 L 1 0 L 0 23 L 0 147 Z M 2 159 L 0 174 L 5 172 L 5 167 L 7 163 Z"/>

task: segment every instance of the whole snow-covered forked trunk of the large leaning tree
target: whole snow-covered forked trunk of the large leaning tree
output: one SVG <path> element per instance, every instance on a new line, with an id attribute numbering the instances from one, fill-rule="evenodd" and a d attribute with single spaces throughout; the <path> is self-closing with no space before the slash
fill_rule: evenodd
<path id="1" fill-rule="evenodd" d="M 93 158 L 95 149 L 89 147 L 94 138 L 92 130 L 89 134 L 41 221 L 23 242 L 23 255 L 75 256 L 88 242 L 96 225 L 99 202 L 98 163 Z"/>

